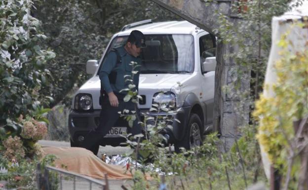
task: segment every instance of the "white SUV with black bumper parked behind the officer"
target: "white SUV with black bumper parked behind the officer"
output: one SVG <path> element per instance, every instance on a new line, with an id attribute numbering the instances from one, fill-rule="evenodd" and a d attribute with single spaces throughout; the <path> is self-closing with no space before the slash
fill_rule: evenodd
<path id="1" fill-rule="evenodd" d="M 115 34 L 99 63 L 87 62 L 87 73 L 93 76 L 73 99 L 69 115 L 71 146 L 81 146 L 89 130 L 98 126 L 100 109 L 104 109 L 99 105 L 101 63 L 107 52 L 125 44 L 132 30 L 141 31 L 147 44 L 141 54 L 141 112 L 148 112 L 153 103 L 172 104 L 178 110 L 174 118 L 180 122 L 174 121 L 172 129 L 162 131 L 163 135 L 174 144 L 176 151 L 180 147 L 190 149 L 200 145 L 203 134 L 213 128 L 216 38 L 187 21 L 153 23 L 146 20 L 126 25 Z M 159 93 L 161 91 L 166 93 Z M 119 134 L 126 128 L 127 123 L 120 118 L 102 138 L 101 145 L 118 146 L 124 140 Z"/>

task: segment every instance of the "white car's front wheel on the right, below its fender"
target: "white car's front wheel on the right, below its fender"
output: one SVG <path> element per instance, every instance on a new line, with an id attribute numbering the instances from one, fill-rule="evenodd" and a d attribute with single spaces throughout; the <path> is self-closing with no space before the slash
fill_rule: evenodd
<path id="1" fill-rule="evenodd" d="M 197 114 L 191 114 L 188 122 L 187 132 L 181 141 L 174 143 L 175 152 L 181 152 L 181 147 L 190 150 L 192 147 L 202 145 L 201 119 Z"/>

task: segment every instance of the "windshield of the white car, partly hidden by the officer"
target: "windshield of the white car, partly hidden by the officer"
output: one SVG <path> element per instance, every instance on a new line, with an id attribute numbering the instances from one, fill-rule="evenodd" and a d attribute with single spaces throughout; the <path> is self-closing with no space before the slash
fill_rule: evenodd
<path id="1" fill-rule="evenodd" d="M 127 36 L 116 37 L 109 48 L 124 45 Z M 192 73 L 194 46 L 192 35 L 146 35 L 147 47 L 142 49 L 140 73 Z"/>

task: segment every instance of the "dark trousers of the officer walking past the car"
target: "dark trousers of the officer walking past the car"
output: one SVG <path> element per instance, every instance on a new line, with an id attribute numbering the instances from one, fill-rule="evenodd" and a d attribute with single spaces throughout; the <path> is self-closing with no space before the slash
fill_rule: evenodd
<path id="1" fill-rule="evenodd" d="M 102 101 L 101 106 L 102 110 L 100 113 L 99 125 L 96 129 L 91 130 L 84 140 L 84 148 L 89 151 L 92 151 L 94 154 L 97 154 L 97 147 L 100 145 L 100 142 L 103 140 L 103 137 L 108 133 L 108 131 L 115 126 L 116 121 L 118 120 L 120 114 L 118 112 L 123 112 L 124 109 L 135 111 L 135 103 L 129 101 L 124 102 L 122 99 L 119 99 L 118 107 L 112 107 L 110 102 L 107 100 Z M 130 128 L 127 123 L 127 134 L 131 133 L 133 135 L 142 133 L 140 124 L 138 123 L 140 118 L 140 111 L 137 108 L 136 110 L 137 119 L 133 122 L 133 127 Z"/>

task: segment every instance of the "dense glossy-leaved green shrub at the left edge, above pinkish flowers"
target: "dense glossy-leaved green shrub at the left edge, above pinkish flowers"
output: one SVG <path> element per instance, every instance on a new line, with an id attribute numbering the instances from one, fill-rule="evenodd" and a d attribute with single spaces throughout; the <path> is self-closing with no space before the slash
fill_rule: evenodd
<path id="1" fill-rule="evenodd" d="M 0 2 L 1 138 L 7 131 L 20 131 L 15 122 L 20 114 L 34 114 L 52 99 L 39 90 L 48 83 L 45 66 L 55 54 L 39 45 L 47 37 L 39 31 L 39 20 L 27 11 L 32 5 L 30 0 Z"/>

